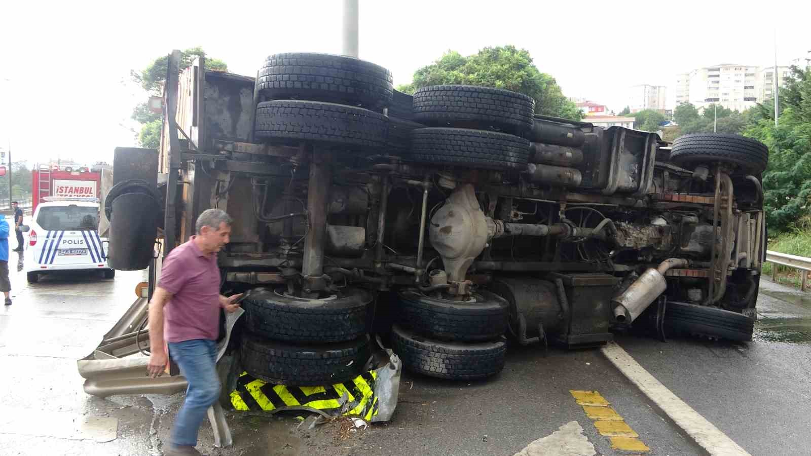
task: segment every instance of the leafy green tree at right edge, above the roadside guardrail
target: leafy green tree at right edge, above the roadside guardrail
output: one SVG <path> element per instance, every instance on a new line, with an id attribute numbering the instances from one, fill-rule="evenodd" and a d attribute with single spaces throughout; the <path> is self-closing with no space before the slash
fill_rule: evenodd
<path id="1" fill-rule="evenodd" d="M 779 125 L 766 101 L 750 110 L 753 123 L 744 130 L 769 147 L 763 204 L 772 232 L 789 230 L 811 213 L 811 68 L 792 71 L 782 92 Z"/>

